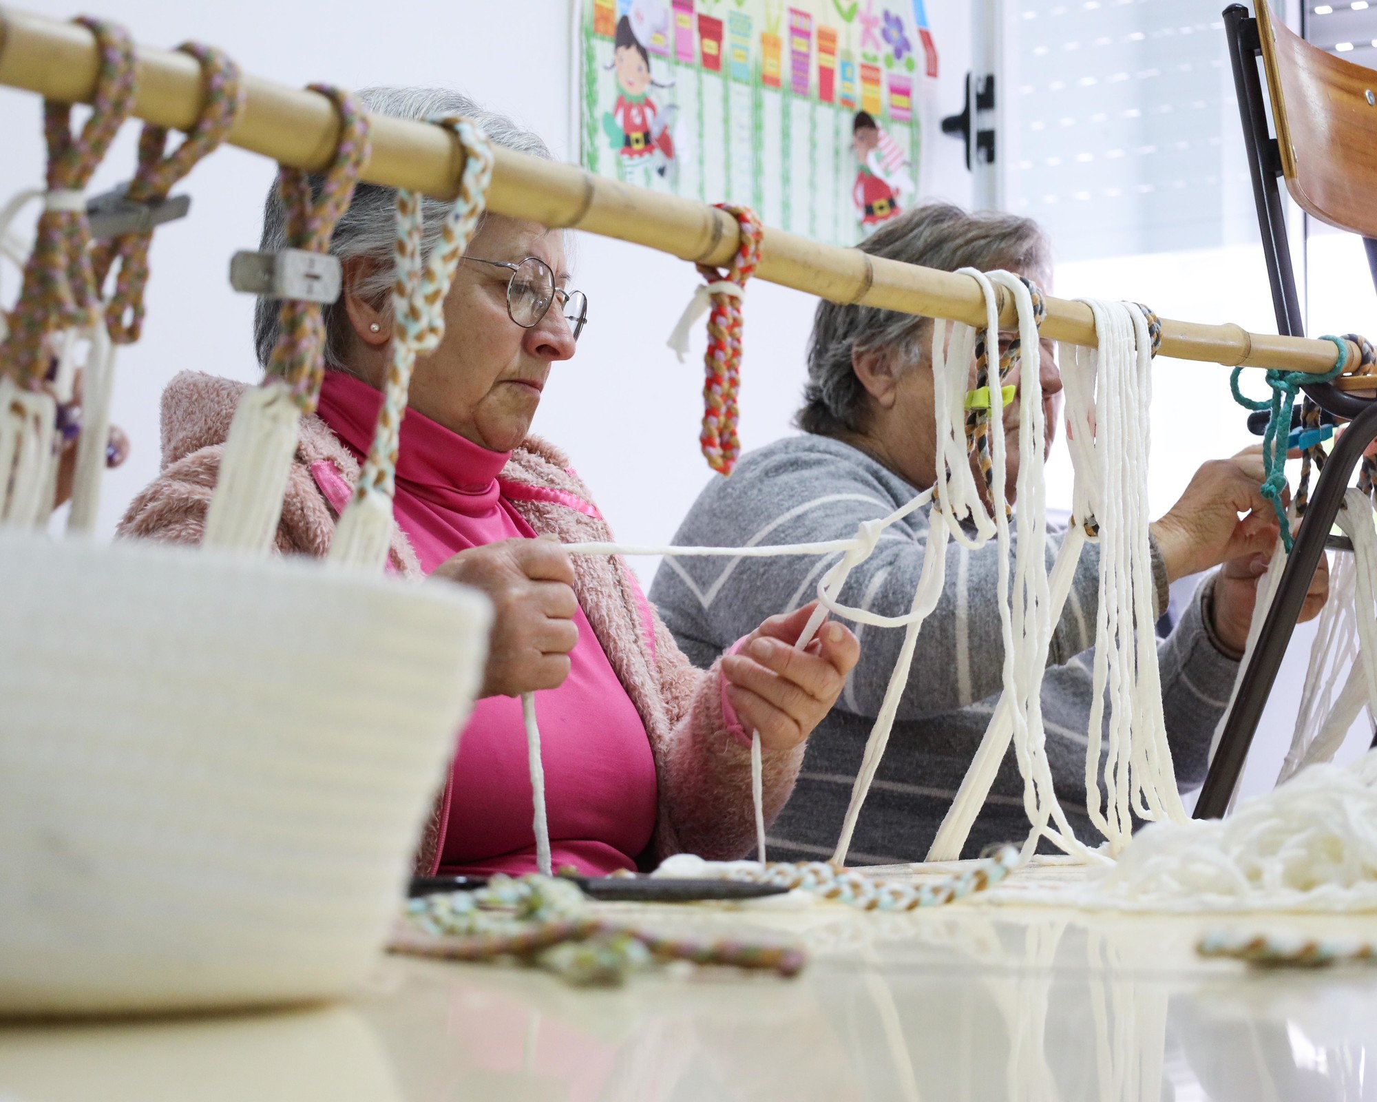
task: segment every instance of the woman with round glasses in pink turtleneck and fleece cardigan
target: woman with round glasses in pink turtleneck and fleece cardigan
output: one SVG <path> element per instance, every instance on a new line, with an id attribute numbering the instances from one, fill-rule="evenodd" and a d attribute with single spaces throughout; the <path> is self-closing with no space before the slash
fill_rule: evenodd
<path id="1" fill-rule="evenodd" d="M 379 88 L 362 98 L 375 113 L 465 114 L 498 145 L 549 156 L 540 138 L 454 92 Z M 325 311 L 328 371 L 318 413 L 300 430 L 278 530 L 284 554 L 326 552 L 369 446 L 392 339 L 394 204 L 391 190 L 361 186 L 335 231 L 344 292 Z M 443 211 L 427 200 L 435 236 Z M 274 189 L 263 249 L 284 244 Z M 445 302 L 445 339 L 416 364 L 412 380 L 390 565 L 406 577 L 478 587 L 496 617 L 481 700 L 417 868 L 534 869 L 518 700 L 526 692 L 536 692 L 556 868 L 599 875 L 676 851 L 739 857 L 753 839 L 750 730 L 760 731 L 772 818 L 793 788 L 808 733 L 855 665 L 855 636 L 829 624 L 808 652 L 795 652 L 807 610 L 771 617 L 704 672 L 675 645 L 621 559 L 571 561 L 562 541 L 610 540 L 611 532 L 567 459 L 527 435 L 552 365 L 573 357 L 587 320 L 584 295 L 567 289 L 563 233 L 489 215 L 464 259 Z M 260 300 L 255 339 L 267 364 L 277 340 L 273 303 Z M 129 507 L 123 534 L 201 539 L 244 390 L 190 372 L 172 380 L 162 399 L 164 470 Z"/>

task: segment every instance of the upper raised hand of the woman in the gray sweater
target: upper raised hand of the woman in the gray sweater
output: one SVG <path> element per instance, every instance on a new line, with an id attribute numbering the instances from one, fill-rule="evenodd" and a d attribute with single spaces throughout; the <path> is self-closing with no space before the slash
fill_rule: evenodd
<path id="1" fill-rule="evenodd" d="M 1166 577 L 1208 570 L 1221 562 L 1271 552 L 1276 512 L 1263 497 L 1261 446 L 1201 466 L 1170 511 L 1151 525 Z M 1239 519 L 1239 514 L 1248 514 Z"/>

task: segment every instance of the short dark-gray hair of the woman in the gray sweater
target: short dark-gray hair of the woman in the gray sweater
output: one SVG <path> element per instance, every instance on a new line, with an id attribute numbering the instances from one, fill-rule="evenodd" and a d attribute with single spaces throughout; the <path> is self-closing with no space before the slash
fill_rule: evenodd
<path id="1" fill-rule="evenodd" d="M 885 222 L 861 244 L 872 256 L 943 271 L 978 267 L 1027 271 L 1051 267 L 1051 244 L 1030 218 L 997 211 L 967 214 L 950 202 L 927 202 Z M 891 362 L 923 362 L 932 320 L 874 306 L 821 302 L 808 342 L 808 383 L 795 423 L 806 433 L 837 435 L 865 428 L 866 390 L 852 354 L 883 350 Z"/>

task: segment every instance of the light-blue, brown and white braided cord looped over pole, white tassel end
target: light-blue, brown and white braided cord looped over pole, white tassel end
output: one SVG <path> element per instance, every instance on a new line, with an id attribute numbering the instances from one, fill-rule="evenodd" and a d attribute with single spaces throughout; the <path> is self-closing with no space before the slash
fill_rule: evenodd
<path id="1" fill-rule="evenodd" d="M 326 561 L 336 568 L 377 573 L 387 563 L 392 541 L 397 453 L 401 448 L 412 371 L 416 357 L 435 351 L 445 336 L 445 298 L 464 249 L 482 220 L 493 174 L 492 147 L 478 127 L 456 116 L 437 116 L 430 121 L 454 131 L 464 150 L 464 175 L 459 198 L 449 208 L 439 240 L 424 263 L 421 196 L 417 191 L 397 193 L 391 366 L 383 387 L 383 408 L 373 433 L 373 445 L 359 471 L 354 496 L 330 540 Z"/>

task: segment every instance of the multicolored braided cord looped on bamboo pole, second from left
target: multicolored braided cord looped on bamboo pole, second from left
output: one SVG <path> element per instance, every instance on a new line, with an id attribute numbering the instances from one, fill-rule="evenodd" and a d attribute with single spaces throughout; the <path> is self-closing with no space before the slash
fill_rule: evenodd
<path id="1" fill-rule="evenodd" d="M 240 69 L 224 52 L 200 43 L 183 43 L 178 50 L 201 63 L 205 83 L 201 117 L 176 150 L 167 156 L 168 128 L 151 124 L 143 127 L 139 135 L 139 167 L 125 193 L 135 202 L 158 202 L 167 198 L 174 185 L 197 161 L 219 147 L 244 106 Z M 149 229 L 99 241 L 91 252 L 96 288 L 105 285 L 112 264 L 120 262 L 114 293 L 105 311 L 106 328 L 116 344 L 135 343 L 143 329 L 143 289 L 149 282 L 151 242 L 153 230 Z"/>

